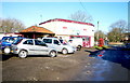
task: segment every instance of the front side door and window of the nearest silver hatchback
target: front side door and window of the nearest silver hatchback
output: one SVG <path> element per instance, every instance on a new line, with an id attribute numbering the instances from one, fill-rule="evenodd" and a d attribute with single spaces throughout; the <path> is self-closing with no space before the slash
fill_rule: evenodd
<path id="1" fill-rule="evenodd" d="M 49 54 L 49 47 L 47 46 L 46 43 L 43 43 L 40 40 L 35 40 L 35 49 L 36 49 L 36 53 L 38 55 L 47 55 L 47 54 Z"/>

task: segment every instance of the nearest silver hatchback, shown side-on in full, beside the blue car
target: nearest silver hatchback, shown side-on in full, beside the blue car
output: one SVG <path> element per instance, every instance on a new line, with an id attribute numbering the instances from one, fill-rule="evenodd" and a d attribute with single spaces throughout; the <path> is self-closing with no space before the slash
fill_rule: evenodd
<path id="1" fill-rule="evenodd" d="M 25 58 L 28 55 L 49 55 L 55 57 L 57 52 L 37 39 L 17 39 L 12 44 L 12 53 Z"/>

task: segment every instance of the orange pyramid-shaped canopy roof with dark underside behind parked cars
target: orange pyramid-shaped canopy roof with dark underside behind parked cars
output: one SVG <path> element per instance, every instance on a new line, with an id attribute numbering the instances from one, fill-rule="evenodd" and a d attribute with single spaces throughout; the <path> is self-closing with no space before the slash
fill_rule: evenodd
<path id="1" fill-rule="evenodd" d="M 37 27 L 37 26 L 31 26 L 27 29 L 24 29 L 20 33 L 22 33 L 23 37 L 25 37 L 25 38 L 31 38 L 31 39 L 41 38 L 47 34 L 53 37 L 55 34 L 54 32 L 52 32 L 43 27 Z"/>

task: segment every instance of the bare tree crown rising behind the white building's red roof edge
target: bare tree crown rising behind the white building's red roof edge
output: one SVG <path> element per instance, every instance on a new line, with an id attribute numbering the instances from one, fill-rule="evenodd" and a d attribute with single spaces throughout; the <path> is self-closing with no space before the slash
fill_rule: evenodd
<path id="1" fill-rule="evenodd" d="M 87 20 L 91 22 L 92 20 L 92 16 L 86 14 L 86 12 L 82 12 L 82 11 L 75 12 L 74 14 L 69 16 L 69 18 L 73 20 L 77 20 L 77 22 L 87 22 Z"/>

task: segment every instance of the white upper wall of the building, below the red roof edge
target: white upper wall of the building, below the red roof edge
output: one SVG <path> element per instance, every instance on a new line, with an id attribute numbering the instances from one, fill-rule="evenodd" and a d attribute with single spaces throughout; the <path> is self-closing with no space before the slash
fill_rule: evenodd
<path id="1" fill-rule="evenodd" d="M 90 25 L 66 23 L 66 22 L 50 22 L 40 25 L 51 31 L 56 36 L 68 39 L 69 36 L 88 36 L 91 37 L 91 46 L 94 45 L 94 27 Z"/>

